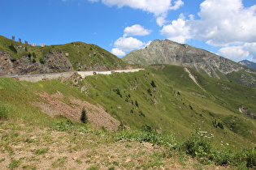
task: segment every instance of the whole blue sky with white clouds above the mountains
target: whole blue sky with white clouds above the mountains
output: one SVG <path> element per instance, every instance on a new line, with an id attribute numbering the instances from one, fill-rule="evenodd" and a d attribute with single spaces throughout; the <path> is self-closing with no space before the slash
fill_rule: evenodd
<path id="1" fill-rule="evenodd" d="M 124 57 L 169 39 L 256 62 L 256 0 L 1 0 L 0 35 L 95 44 Z"/>

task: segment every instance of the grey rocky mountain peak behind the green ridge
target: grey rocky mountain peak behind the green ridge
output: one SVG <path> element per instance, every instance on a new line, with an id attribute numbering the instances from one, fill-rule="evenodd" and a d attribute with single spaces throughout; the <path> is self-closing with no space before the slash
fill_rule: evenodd
<path id="1" fill-rule="evenodd" d="M 216 79 L 226 79 L 248 87 L 256 87 L 256 70 L 204 49 L 197 49 L 171 40 L 153 40 L 145 49 L 134 50 L 122 60 L 141 66 L 153 64 L 187 66 Z"/>

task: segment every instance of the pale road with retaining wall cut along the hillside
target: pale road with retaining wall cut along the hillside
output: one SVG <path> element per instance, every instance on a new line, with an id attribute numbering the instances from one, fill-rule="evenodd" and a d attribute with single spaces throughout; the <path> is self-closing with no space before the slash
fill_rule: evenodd
<path id="1" fill-rule="evenodd" d="M 94 74 L 112 74 L 116 72 L 137 72 L 139 70 L 144 69 L 131 69 L 131 70 L 109 70 L 109 71 L 69 71 L 69 72 L 63 72 L 63 73 L 50 73 L 50 74 L 29 74 L 29 75 L 5 75 L 6 77 L 12 77 L 19 80 L 25 80 L 28 82 L 36 83 L 41 80 L 47 80 L 47 79 L 59 79 L 60 77 L 69 78 L 73 74 L 77 73 L 80 74 L 83 79 L 85 79 L 86 76 L 94 75 Z M 3 76 L 1 76 L 3 77 Z"/>

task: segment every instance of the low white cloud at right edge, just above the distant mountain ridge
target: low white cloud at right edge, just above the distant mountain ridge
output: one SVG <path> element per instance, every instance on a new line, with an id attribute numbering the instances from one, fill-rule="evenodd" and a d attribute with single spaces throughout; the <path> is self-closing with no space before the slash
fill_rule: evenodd
<path id="1" fill-rule="evenodd" d="M 245 57 L 256 59 L 256 43 L 245 43 L 244 45 L 224 47 L 219 49 L 218 54 L 223 57 L 228 57 L 235 62 L 239 62 Z"/>

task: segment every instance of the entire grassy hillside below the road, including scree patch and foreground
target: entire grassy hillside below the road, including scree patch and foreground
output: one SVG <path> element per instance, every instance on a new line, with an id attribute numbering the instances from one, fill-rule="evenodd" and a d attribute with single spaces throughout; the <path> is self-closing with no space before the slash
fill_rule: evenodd
<path id="1" fill-rule="evenodd" d="M 0 93 L 4 167 L 256 166 L 255 89 L 182 66 L 79 81 L 0 78 Z"/>

